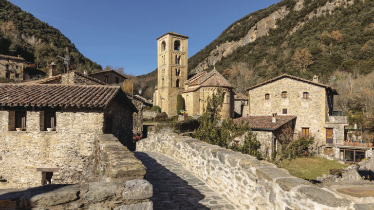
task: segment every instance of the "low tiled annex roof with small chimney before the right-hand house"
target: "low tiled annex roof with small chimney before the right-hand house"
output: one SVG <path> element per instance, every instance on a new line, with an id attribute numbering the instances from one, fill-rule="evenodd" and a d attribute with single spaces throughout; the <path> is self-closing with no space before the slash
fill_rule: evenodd
<path id="1" fill-rule="evenodd" d="M 294 120 L 296 117 L 296 115 L 277 115 L 277 122 L 273 123 L 272 115 L 248 115 L 245 117 L 234 119 L 234 123 L 240 123 L 244 121 L 244 123 L 248 123 L 249 126 L 254 130 L 276 130 L 285 123 Z"/>

